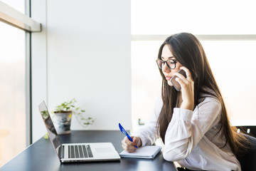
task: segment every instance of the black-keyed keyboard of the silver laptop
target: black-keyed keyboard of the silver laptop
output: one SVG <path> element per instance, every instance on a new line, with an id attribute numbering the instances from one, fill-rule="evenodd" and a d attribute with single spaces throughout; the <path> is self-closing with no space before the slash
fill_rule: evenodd
<path id="1" fill-rule="evenodd" d="M 93 157 L 90 145 L 68 145 L 68 158 Z"/>

